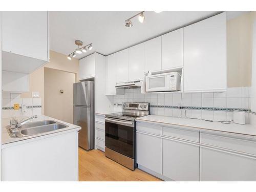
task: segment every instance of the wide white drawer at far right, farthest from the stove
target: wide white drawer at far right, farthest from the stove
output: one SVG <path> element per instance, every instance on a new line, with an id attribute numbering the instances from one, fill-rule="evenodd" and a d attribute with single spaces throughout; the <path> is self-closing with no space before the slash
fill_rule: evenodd
<path id="1" fill-rule="evenodd" d="M 256 140 L 250 141 L 231 136 L 201 133 L 200 143 L 256 155 Z"/>

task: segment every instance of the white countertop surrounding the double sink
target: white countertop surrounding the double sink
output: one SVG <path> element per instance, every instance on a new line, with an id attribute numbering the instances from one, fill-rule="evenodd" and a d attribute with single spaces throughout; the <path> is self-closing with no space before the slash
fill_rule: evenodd
<path id="1" fill-rule="evenodd" d="M 20 117 L 17 118 L 22 119 L 24 117 Z M 37 115 L 36 119 L 32 119 L 29 122 L 33 122 L 33 121 L 42 121 L 42 120 L 54 120 L 54 121 L 58 121 L 60 123 L 66 124 L 68 125 L 68 127 L 63 128 L 63 129 L 59 129 L 59 130 L 55 130 L 55 131 L 51 131 L 51 132 L 46 132 L 46 133 L 41 133 L 41 134 L 36 134 L 36 135 L 32 135 L 32 136 L 27 136 L 27 137 L 19 137 L 19 138 L 11 138 L 9 133 L 7 132 L 6 126 L 10 124 L 10 118 L 3 118 L 2 119 L 2 144 L 7 144 L 7 143 L 13 143 L 13 142 L 17 142 L 17 141 L 22 141 L 22 140 L 28 140 L 28 139 L 32 139 L 32 138 L 40 138 L 41 136 L 51 136 L 52 134 L 56 134 L 59 132 L 64 132 L 64 131 L 70 131 L 70 130 L 80 130 L 81 127 L 78 125 L 74 125 L 71 123 L 67 123 L 58 119 L 54 119 L 52 117 L 48 117 L 45 115 Z"/>

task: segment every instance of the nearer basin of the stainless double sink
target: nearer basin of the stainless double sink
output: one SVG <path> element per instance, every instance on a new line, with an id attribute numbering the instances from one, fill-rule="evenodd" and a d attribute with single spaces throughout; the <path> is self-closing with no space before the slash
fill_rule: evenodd
<path id="1" fill-rule="evenodd" d="M 40 134 L 40 133 L 63 129 L 66 127 L 68 127 L 68 126 L 64 125 L 64 124 L 48 124 L 45 126 L 31 127 L 29 129 L 20 131 L 20 133 L 23 135 L 35 135 L 35 134 Z"/>

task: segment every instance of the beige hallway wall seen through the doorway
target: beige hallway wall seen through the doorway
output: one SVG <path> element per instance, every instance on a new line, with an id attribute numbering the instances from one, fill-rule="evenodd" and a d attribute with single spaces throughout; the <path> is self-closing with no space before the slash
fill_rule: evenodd
<path id="1" fill-rule="evenodd" d="M 74 82 L 74 73 L 45 68 L 45 115 L 73 123 Z"/>

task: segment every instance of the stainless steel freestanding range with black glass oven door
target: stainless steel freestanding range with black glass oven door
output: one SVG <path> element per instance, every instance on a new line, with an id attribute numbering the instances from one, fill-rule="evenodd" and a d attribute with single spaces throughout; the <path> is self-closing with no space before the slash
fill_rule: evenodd
<path id="1" fill-rule="evenodd" d="M 105 115 L 105 156 L 136 168 L 136 118 L 150 114 L 150 103 L 123 102 L 122 112 Z"/>

